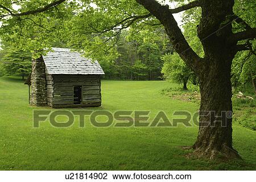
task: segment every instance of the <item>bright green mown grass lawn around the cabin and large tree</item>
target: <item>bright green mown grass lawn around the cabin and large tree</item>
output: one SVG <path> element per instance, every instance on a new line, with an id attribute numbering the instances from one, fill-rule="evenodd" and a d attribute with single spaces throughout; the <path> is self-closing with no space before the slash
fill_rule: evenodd
<path id="1" fill-rule="evenodd" d="M 175 110 L 195 112 L 199 105 L 172 100 L 160 93 L 177 86 L 166 81 L 102 81 L 102 107 L 115 110 Z M 234 148 L 243 161 L 188 159 L 180 146 L 195 142 L 197 127 L 96 128 L 88 122 L 57 129 L 49 122 L 33 128 L 28 88 L 22 81 L 0 78 L 1 170 L 222 170 L 256 169 L 256 133 L 234 125 Z M 104 119 L 104 118 L 102 118 Z"/>

